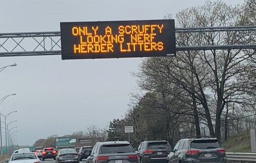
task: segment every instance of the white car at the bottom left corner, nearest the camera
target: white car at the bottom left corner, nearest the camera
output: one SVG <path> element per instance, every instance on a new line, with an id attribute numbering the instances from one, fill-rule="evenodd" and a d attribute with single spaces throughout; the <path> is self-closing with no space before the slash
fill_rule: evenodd
<path id="1" fill-rule="evenodd" d="M 35 152 L 16 153 L 11 155 L 9 163 L 41 163 Z"/>

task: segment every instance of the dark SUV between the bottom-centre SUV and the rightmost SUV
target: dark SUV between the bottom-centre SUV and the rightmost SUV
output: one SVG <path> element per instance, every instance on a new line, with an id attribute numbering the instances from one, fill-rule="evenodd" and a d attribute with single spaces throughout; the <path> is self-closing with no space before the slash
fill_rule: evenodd
<path id="1" fill-rule="evenodd" d="M 144 141 L 139 145 L 136 153 L 140 163 L 166 163 L 170 144 L 165 141 Z"/>

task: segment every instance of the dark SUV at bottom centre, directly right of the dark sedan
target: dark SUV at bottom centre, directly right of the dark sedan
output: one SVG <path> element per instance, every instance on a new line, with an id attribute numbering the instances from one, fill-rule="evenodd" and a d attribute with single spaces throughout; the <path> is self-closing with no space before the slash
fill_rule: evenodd
<path id="1" fill-rule="evenodd" d="M 129 142 L 97 142 L 87 163 L 139 163 Z"/>

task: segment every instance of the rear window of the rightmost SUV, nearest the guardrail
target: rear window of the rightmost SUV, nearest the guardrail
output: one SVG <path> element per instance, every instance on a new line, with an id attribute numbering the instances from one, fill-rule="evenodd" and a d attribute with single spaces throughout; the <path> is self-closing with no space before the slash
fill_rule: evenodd
<path id="1" fill-rule="evenodd" d="M 191 148 L 197 149 L 212 149 L 212 148 L 220 148 L 221 143 L 219 140 L 193 140 L 191 142 Z"/>

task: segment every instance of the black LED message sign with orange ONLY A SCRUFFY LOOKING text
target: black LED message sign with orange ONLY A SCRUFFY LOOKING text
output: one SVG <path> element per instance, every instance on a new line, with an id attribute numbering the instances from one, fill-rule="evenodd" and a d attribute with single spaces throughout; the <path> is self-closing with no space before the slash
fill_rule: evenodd
<path id="1" fill-rule="evenodd" d="M 175 55 L 173 19 L 61 23 L 62 59 Z"/>

